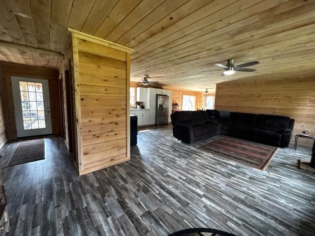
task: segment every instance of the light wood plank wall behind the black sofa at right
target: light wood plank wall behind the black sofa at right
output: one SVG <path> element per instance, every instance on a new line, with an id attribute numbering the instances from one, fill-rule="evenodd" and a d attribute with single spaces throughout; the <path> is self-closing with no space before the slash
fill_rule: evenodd
<path id="1" fill-rule="evenodd" d="M 295 134 L 308 130 L 315 135 L 315 77 L 281 79 L 256 78 L 220 83 L 216 91 L 216 109 L 255 114 L 288 116 L 295 119 Z M 312 141 L 299 139 L 299 145 L 311 147 Z"/>

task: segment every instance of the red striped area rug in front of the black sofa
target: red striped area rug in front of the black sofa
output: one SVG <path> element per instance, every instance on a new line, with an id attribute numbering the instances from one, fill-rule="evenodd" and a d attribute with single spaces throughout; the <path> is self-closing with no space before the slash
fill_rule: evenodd
<path id="1" fill-rule="evenodd" d="M 267 168 L 279 149 L 231 137 L 224 137 L 199 148 L 260 170 Z"/>

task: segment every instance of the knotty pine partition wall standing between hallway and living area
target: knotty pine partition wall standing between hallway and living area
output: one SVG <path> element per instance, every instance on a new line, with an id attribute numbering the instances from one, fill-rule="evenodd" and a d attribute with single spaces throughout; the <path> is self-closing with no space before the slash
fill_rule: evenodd
<path id="1" fill-rule="evenodd" d="M 69 30 L 77 169 L 83 175 L 130 159 L 130 49 Z"/>

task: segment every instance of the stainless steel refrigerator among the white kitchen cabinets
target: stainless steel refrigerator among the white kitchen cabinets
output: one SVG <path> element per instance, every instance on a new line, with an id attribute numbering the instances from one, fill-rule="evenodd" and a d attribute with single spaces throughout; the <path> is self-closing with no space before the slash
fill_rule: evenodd
<path id="1" fill-rule="evenodd" d="M 156 101 L 156 125 L 168 124 L 169 96 L 157 94 Z"/>

